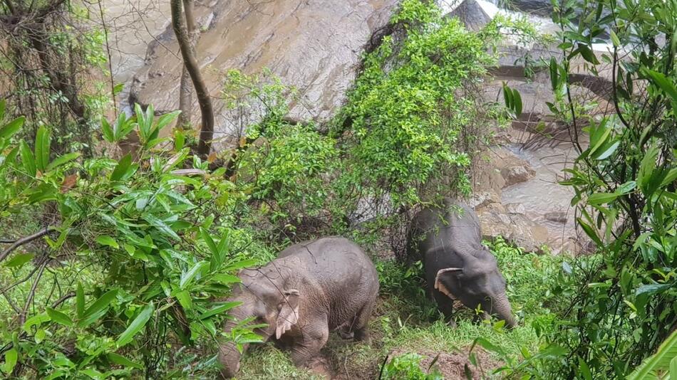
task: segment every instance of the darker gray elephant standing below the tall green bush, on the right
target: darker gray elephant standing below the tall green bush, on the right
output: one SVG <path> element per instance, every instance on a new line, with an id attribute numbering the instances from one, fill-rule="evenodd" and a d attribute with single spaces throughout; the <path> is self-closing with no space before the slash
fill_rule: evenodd
<path id="1" fill-rule="evenodd" d="M 460 300 L 471 309 L 479 305 L 485 318 L 495 314 L 515 326 L 505 280 L 467 205 L 444 199 L 442 207 L 420 211 L 408 231 L 407 255 L 423 260 L 428 291 L 450 324 L 453 302 Z"/>

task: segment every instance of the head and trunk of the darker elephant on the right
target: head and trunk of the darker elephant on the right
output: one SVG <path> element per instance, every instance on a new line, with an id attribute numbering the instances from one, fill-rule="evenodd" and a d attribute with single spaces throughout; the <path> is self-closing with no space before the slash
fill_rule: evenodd
<path id="1" fill-rule="evenodd" d="M 438 270 L 435 289 L 471 309 L 479 305 L 485 317 L 497 315 L 508 327 L 515 327 L 505 293 L 505 279 L 498 270 L 496 258 L 484 247 L 460 256 L 460 268 Z"/>

